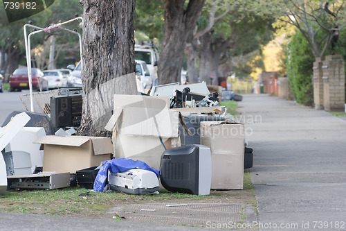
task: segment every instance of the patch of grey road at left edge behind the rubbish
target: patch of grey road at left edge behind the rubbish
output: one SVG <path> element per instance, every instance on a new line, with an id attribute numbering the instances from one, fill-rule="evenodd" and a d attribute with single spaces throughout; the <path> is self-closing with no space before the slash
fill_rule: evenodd
<path id="1" fill-rule="evenodd" d="M 3 121 L 5 121 L 8 114 L 15 110 L 26 111 L 24 104 L 21 102 L 19 96 L 21 94 L 29 94 L 28 90 L 23 90 L 21 92 L 8 92 L 3 91 L 0 93 L 0 126 L 2 126 Z"/>

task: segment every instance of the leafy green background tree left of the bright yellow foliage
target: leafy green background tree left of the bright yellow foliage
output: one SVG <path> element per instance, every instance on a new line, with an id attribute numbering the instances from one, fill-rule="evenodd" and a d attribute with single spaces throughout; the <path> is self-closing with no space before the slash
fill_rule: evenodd
<path id="1" fill-rule="evenodd" d="M 201 80 L 218 85 L 219 66 L 235 56 L 244 56 L 260 49 L 260 44 L 268 42 L 271 35 L 271 20 L 258 17 L 249 12 L 232 10 L 215 25 L 212 30 L 201 36 L 199 51 L 199 76 Z M 252 72 L 248 68 L 250 73 Z M 249 74 L 250 74 L 249 73 Z M 224 74 L 223 74 L 224 75 Z M 228 74 L 227 74 L 228 76 Z"/>

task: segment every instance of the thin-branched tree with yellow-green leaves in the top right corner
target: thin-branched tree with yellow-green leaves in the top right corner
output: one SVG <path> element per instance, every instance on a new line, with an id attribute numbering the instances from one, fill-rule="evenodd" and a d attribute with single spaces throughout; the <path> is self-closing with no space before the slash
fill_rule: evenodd
<path id="1" fill-rule="evenodd" d="M 298 28 L 315 57 L 333 50 L 340 30 L 346 26 L 343 0 L 262 0 L 255 1 L 248 10 L 276 17 Z"/>

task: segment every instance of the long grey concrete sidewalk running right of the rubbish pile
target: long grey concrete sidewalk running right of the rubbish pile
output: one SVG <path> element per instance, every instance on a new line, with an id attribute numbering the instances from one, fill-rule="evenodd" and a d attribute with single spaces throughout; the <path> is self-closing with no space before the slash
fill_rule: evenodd
<path id="1" fill-rule="evenodd" d="M 346 230 L 346 121 L 268 95 L 244 95 L 260 230 Z"/>

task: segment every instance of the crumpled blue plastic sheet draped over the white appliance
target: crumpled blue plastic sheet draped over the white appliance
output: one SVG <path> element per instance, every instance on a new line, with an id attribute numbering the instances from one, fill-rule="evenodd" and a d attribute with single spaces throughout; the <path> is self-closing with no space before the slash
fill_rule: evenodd
<path id="1" fill-rule="evenodd" d="M 107 171 L 111 171 L 111 173 L 121 173 L 122 171 L 127 171 L 129 169 L 144 169 L 148 171 L 152 171 L 158 177 L 158 170 L 152 169 L 149 165 L 145 164 L 140 160 L 132 160 L 126 158 L 119 158 L 113 160 L 106 160 L 102 162 L 102 167 L 98 171 L 98 175 L 93 182 L 93 190 L 94 191 L 103 191 L 104 184 L 107 179 Z"/>

